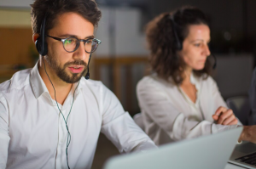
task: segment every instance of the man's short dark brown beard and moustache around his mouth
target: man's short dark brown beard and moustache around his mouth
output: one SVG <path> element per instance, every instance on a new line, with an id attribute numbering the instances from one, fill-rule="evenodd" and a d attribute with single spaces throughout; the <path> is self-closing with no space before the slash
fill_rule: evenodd
<path id="1" fill-rule="evenodd" d="M 81 77 L 84 75 L 86 68 L 87 68 L 87 64 L 84 62 L 84 60 L 78 59 L 75 60 L 73 62 L 67 62 L 65 65 L 63 65 L 63 67 L 61 67 L 61 65 L 59 65 L 57 63 L 57 61 L 55 59 L 53 59 L 53 57 L 51 56 L 47 56 L 45 57 L 46 61 L 48 62 L 49 66 L 51 67 L 51 69 L 53 69 L 56 73 L 56 75 L 64 82 L 67 83 L 75 83 L 75 82 L 79 82 L 79 80 L 81 79 Z M 65 69 L 69 66 L 69 65 L 84 65 L 84 70 L 82 73 L 73 73 L 71 76 L 68 75 L 68 73 L 65 71 Z"/>

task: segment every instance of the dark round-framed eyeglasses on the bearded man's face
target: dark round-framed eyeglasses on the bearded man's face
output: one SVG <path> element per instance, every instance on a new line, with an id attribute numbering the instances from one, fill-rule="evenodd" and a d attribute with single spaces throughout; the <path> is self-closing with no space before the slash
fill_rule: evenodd
<path id="1" fill-rule="evenodd" d="M 47 35 L 47 37 L 51 37 Z M 61 41 L 63 43 L 63 48 L 68 53 L 73 53 L 76 51 L 79 46 L 80 42 L 84 42 L 84 48 L 85 52 L 88 54 L 91 54 L 96 51 L 96 48 L 98 48 L 98 45 L 102 43 L 102 41 L 96 39 L 96 38 L 89 38 L 89 39 L 78 39 L 76 37 L 67 37 L 64 39 L 61 39 L 59 37 L 51 37 L 57 41 Z"/>

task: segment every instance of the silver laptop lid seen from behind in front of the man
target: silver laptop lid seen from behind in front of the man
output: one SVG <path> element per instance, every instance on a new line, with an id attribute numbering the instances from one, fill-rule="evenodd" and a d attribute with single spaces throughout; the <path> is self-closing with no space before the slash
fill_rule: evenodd
<path id="1" fill-rule="evenodd" d="M 104 169 L 223 169 L 242 127 L 110 158 Z"/>

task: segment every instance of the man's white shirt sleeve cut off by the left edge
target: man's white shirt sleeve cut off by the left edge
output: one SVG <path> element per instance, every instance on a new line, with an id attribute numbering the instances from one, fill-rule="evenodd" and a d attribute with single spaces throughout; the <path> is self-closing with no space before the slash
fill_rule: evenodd
<path id="1" fill-rule="evenodd" d="M 9 147 L 9 115 L 7 101 L 0 93 L 0 168 L 5 168 Z"/>

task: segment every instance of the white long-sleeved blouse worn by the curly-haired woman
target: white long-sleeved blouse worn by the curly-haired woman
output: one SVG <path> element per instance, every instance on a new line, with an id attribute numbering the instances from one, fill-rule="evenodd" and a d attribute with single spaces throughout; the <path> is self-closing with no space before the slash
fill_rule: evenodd
<path id="1" fill-rule="evenodd" d="M 145 76 L 138 82 L 137 98 L 145 132 L 155 144 L 196 138 L 237 127 L 214 123 L 212 115 L 219 106 L 227 105 L 212 77 L 204 79 L 203 76 L 191 76 L 193 77 L 190 81 L 197 89 L 195 103 L 183 93 L 181 87 L 174 84 L 172 78 L 167 82 L 154 74 Z M 241 122 L 238 124 L 241 125 Z"/>

